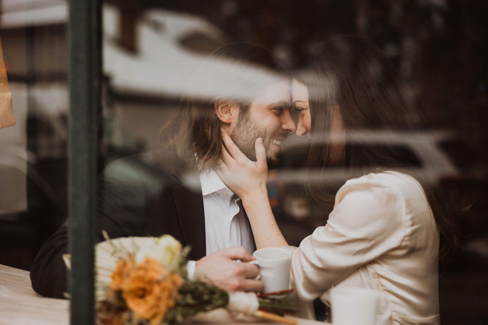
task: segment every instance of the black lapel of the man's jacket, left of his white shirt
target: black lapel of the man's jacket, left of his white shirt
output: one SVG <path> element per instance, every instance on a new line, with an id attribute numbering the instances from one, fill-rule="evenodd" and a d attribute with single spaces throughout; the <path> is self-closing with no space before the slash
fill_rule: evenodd
<path id="1" fill-rule="evenodd" d="M 199 260 L 206 254 L 205 214 L 200 179 L 198 186 L 190 187 L 183 183 L 174 187 L 173 196 L 185 244 L 192 247 L 189 258 Z"/>

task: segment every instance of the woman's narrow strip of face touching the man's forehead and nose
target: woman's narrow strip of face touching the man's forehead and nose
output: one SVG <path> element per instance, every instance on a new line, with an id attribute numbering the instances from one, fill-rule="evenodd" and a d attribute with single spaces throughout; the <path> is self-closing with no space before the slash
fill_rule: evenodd
<path id="1" fill-rule="evenodd" d="M 298 112 L 297 136 L 310 137 L 310 105 L 308 103 L 308 90 L 306 86 L 295 79 L 291 81 L 291 98 L 293 107 Z"/>

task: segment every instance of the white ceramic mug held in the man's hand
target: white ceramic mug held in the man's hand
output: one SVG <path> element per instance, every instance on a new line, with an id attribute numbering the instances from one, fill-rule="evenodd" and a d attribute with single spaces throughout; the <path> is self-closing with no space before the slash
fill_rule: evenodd
<path id="1" fill-rule="evenodd" d="M 288 289 L 292 252 L 280 247 L 265 247 L 252 255 L 256 260 L 250 263 L 259 266 L 259 276 L 264 284 L 263 292 Z"/>

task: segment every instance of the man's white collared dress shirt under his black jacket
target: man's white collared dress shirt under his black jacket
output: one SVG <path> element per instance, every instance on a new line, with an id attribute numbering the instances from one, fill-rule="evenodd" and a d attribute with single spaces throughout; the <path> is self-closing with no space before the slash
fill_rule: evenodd
<path id="1" fill-rule="evenodd" d="M 241 198 L 232 192 L 214 170 L 200 174 L 205 214 L 206 255 L 235 246 L 254 252 L 251 226 L 244 215 Z"/>

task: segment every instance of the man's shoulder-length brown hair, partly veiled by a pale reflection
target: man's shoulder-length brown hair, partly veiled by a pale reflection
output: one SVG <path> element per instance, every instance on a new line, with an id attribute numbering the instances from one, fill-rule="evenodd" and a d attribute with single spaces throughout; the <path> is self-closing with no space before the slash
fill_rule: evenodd
<path id="1" fill-rule="evenodd" d="M 206 170 L 219 163 L 222 154 L 221 121 L 214 103 L 231 100 L 246 114 L 253 98 L 279 76 L 277 64 L 264 47 L 232 43 L 217 49 L 203 62 L 189 90 L 163 126 L 160 139 L 178 157 Z"/>

